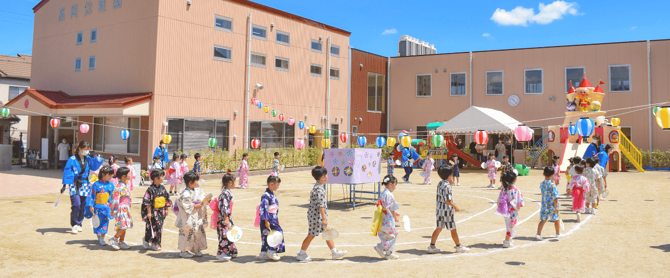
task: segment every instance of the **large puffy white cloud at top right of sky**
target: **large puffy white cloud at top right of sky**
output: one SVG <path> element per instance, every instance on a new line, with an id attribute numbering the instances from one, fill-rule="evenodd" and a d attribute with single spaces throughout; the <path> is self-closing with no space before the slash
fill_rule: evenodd
<path id="1" fill-rule="evenodd" d="M 499 25 L 528 26 L 528 23 L 549 24 L 556 19 L 562 19 L 563 15 L 582 15 L 577 11 L 579 5 L 575 2 L 554 1 L 549 5 L 539 3 L 539 13 L 533 8 L 515 7 L 511 11 L 496 9 L 491 17 Z"/>

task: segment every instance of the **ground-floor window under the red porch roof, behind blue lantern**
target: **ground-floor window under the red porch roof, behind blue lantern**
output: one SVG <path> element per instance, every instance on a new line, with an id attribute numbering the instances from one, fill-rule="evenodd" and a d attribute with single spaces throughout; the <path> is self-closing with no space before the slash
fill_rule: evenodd
<path id="1" fill-rule="evenodd" d="M 138 117 L 94 117 L 93 149 L 106 153 L 139 153 Z M 122 130 L 130 133 L 128 139 L 119 136 Z"/>

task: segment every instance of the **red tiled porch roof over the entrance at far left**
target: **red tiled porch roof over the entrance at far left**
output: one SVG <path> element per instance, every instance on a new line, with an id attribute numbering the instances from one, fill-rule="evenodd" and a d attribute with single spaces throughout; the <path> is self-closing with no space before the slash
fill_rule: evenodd
<path id="1" fill-rule="evenodd" d="M 19 96 L 7 102 L 7 106 L 18 101 L 24 94 L 33 96 L 50 109 L 74 109 L 86 105 L 98 105 L 101 108 L 129 107 L 151 100 L 151 92 L 135 92 L 129 94 L 93 94 L 86 96 L 70 96 L 62 91 L 25 89 Z"/>

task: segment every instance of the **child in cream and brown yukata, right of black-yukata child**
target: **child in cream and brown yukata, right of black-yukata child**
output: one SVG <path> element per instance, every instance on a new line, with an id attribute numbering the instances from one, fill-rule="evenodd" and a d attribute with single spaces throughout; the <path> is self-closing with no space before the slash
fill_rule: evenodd
<path id="1" fill-rule="evenodd" d="M 178 248 L 181 252 L 179 257 L 191 258 L 202 257 L 202 250 L 207 249 L 207 207 L 211 200 L 210 196 L 200 189 L 198 184 L 200 177 L 197 173 L 184 173 L 184 184 L 186 188 L 175 201 L 179 208 L 179 214 L 175 226 L 179 228 Z M 191 251 L 193 254 L 188 253 Z"/>

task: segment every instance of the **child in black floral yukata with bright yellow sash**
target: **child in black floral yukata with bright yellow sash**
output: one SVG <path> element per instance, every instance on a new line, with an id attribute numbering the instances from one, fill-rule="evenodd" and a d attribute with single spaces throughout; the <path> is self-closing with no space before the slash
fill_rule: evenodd
<path id="1" fill-rule="evenodd" d="M 170 195 L 167 194 L 165 186 L 165 171 L 160 168 L 153 169 L 151 174 L 151 186 L 142 198 L 141 215 L 142 221 L 146 222 L 142 246 L 153 251 L 161 250 L 161 238 L 163 236 L 163 222 L 167 215 L 167 208 L 172 206 Z"/>

